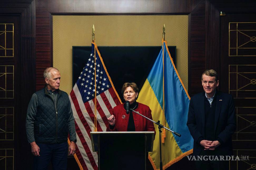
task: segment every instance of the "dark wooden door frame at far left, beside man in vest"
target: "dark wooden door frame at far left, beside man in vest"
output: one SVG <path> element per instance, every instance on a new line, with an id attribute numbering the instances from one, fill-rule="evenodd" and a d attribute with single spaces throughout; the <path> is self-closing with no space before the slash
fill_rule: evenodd
<path id="1" fill-rule="evenodd" d="M 14 33 L 20 42 L 19 46 L 14 46 L 14 50 L 19 48 L 19 54 L 5 59 L 15 65 L 14 99 L 4 101 L 6 106 L 14 105 L 14 141 L 1 141 L 0 147 L 14 147 L 14 169 L 32 168 L 25 121 L 27 105 L 36 90 L 35 3 L 35 0 L 0 2 L 0 16 L 18 16 L 20 23 L 20 35 Z"/>

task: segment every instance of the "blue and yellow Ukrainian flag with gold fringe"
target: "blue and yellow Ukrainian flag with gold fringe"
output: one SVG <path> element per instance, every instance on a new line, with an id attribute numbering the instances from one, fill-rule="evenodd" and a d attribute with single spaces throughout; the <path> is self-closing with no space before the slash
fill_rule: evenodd
<path id="1" fill-rule="evenodd" d="M 162 49 L 140 91 L 140 96 L 143 97 L 139 97 L 137 101 L 150 107 L 154 121 L 160 120 L 160 124 L 181 134 L 181 137 L 178 137 L 162 129 L 162 162 L 163 169 L 166 169 L 193 152 L 193 138 L 186 125 L 190 97 L 174 66 L 166 41 L 163 41 Z M 149 160 L 156 170 L 160 169 L 160 150 L 157 125 L 155 129 L 156 137 Z"/>

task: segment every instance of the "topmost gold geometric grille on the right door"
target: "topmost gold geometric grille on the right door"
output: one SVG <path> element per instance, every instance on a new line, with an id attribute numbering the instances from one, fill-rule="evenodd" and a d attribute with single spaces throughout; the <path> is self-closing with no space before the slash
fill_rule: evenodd
<path id="1" fill-rule="evenodd" d="M 229 23 L 229 56 L 256 56 L 256 22 Z"/>

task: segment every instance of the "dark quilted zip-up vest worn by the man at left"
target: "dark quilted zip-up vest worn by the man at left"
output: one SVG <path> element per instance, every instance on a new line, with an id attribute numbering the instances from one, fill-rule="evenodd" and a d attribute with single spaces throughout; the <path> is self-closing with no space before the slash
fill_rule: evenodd
<path id="1" fill-rule="evenodd" d="M 34 124 L 35 140 L 38 143 L 61 143 L 67 141 L 69 98 L 66 92 L 58 90 L 56 106 L 45 88 L 36 92 L 37 114 Z"/>

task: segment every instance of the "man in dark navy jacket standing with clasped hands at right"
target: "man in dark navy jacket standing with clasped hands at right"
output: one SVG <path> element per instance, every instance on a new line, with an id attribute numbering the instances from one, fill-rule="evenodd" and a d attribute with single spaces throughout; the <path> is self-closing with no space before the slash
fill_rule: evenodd
<path id="1" fill-rule="evenodd" d="M 230 94 L 216 90 L 219 85 L 216 71 L 206 70 L 201 79 L 204 92 L 191 97 L 187 121 L 194 139 L 193 155 L 205 156 L 202 161 L 196 161 L 196 168 L 228 169 L 228 161 L 224 160 L 233 153 L 234 99 Z"/>

